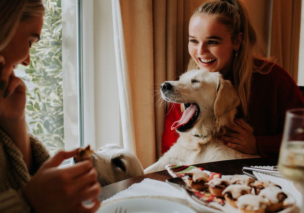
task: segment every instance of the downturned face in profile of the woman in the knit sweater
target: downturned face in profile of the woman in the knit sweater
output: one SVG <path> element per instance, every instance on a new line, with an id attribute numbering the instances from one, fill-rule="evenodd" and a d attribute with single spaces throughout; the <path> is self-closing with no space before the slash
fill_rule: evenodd
<path id="1" fill-rule="evenodd" d="M 42 15 L 31 16 L 19 23 L 12 40 L 0 51 L 0 55 L 4 56 L 5 65 L 13 69 L 18 64 L 29 65 L 29 48 L 39 40 L 42 26 Z"/>

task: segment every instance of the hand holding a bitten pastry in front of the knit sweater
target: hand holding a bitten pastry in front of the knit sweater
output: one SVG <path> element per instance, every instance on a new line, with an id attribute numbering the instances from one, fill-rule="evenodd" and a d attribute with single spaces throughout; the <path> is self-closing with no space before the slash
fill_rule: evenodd
<path id="1" fill-rule="evenodd" d="M 92 160 L 84 160 L 72 167 L 57 168 L 77 150 L 60 151 L 46 161 L 23 188 L 35 212 L 95 212 L 100 207 L 97 197 L 100 184 Z M 86 207 L 83 201 L 91 200 Z"/>

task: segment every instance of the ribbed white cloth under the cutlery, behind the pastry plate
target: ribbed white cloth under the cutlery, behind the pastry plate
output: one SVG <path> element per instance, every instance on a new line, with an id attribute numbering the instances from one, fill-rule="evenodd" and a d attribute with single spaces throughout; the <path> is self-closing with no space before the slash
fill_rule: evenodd
<path id="1" fill-rule="evenodd" d="M 271 166 L 254 166 L 254 167 L 260 169 L 272 170 Z M 296 205 L 298 207 L 302 207 L 302 199 L 303 199 L 302 194 L 296 189 L 296 187 L 294 186 L 291 180 L 287 180 L 286 178 L 283 178 L 281 175 L 276 175 L 276 174 L 267 174 L 267 173 L 261 173 L 255 171 L 253 173 L 258 180 L 269 180 L 281 186 L 284 191 L 290 193 L 295 198 Z"/>

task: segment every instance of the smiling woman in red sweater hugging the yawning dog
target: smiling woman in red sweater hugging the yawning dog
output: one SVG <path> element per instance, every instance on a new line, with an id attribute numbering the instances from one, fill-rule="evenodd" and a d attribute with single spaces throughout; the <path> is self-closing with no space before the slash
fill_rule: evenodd
<path id="1" fill-rule="evenodd" d="M 214 0 L 202 4 L 189 22 L 188 70 L 207 69 L 220 72 L 238 91 L 241 104 L 238 118 L 245 118 L 254 133 L 241 122 L 229 125 L 220 139 L 226 146 L 246 154 L 277 156 L 289 108 L 304 107 L 299 87 L 288 73 L 266 59 L 254 56 L 261 45 L 248 12 L 239 0 Z M 176 142 L 171 130 L 181 118 L 179 105 L 171 105 L 166 115 L 162 151 Z"/>

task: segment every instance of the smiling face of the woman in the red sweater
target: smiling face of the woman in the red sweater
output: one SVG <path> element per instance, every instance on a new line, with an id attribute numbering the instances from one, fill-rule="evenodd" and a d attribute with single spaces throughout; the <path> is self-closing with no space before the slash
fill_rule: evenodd
<path id="1" fill-rule="evenodd" d="M 237 48 L 226 26 L 212 16 L 198 15 L 190 19 L 188 50 L 200 69 L 227 74 L 232 69 Z"/>

